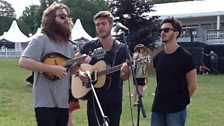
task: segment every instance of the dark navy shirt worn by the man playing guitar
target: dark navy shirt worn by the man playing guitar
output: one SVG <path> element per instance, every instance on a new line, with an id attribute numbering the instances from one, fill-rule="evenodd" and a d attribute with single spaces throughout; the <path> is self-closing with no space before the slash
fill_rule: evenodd
<path id="1" fill-rule="evenodd" d="M 99 47 L 102 47 L 99 40 L 90 41 L 84 45 L 84 47 L 80 50 L 80 53 L 89 54 L 89 52 L 93 52 L 94 49 Z M 107 51 L 102 59 L 93 58 L 90 64 L 94 65 L 99 60 L 103 60 L 108 66 L 112 66 L 114 55 L 116 55 L 114 66 L 122 64 L 128 58 L 125 45 L 118 42 L 117 40 L 114 40 L 112 49 Z M 123 80 L 120 78 L 120 71 L 118 70 L 117 72 L 109 74 L 108 76 L 111 76 L 110 87 L 108 89 L 96 89 L 99 100 L 101 102 L 122 101 Z"/>

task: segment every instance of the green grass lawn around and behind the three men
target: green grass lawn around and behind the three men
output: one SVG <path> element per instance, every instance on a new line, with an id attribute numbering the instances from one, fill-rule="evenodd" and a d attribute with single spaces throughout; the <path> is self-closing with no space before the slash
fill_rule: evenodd
<path id="1" fill-rule="evenodd" d="M 18 67 L 18 58 L 0 58 L 0 126 L 35 126 L 32 108 L 32 89 L 25 78 L 30 71 Z M 140 126 L 149 126 L 150 110 L 155 89 L 155 74 L 150 72 L 150 82 L 144 92 L 143 105 L 146 118 L 140 112 Z M 187 126 L 223 126 L 224 75 L 198 75 L 198 89 L 188 106 Z M 129 89 L 130 87 L 130 89 Z M 121 126 L 132 126 L 130 92 L 134 86 L 124 84 Z M 86 101 L 80 101 L 81 109 L 73 112 L 76 126 L 87 126 Z M 136 125 L 137 109 L 132 108 Z"/>

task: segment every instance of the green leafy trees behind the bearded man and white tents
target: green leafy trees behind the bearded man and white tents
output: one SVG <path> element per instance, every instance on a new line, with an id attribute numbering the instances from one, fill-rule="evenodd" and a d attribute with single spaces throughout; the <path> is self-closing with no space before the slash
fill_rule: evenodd
<path id="1" fill-rule="evenodd" d="M 37 28 L 40 27 L 41 18 L 43 11 L 53 2 L 59 0 L 40 0 L 40 5 L 31 5 L 25 8 L 23 14 L 18 19 L 18 25 L 20 30 L 28 35 L 29 33 L 35 34 Z M 2 0 L 0 0 L 0 6 L 2 5 Z M 92 37 L 95 37 L 95 27 L 93 24 L 93 15 L 95 15 L 100 10 L 108 10 L 108 2 L 105 0 L 60 0 L 60 2 L 65 3 L 70 7 L 71 17 L 73 21 L 76 19 L 80 19 L 84 29 L 89 33 Z M 7 2 L 3 2 L 7 3 Z M 8 8 L 11 7 L 10 4 L 6 4 Z M 8 13 L 8 11 L 3 10 L 4 8 L 0 8 L 0 34 L 2 35 L 5 31 L 7 31 L 11 25 L 13 20 L 12 17 L 1 17 L 1 14 Z M 13 9 L 13 8 L 12 8 Z M 14 14 L 14 11 L 9 11 L 10 14 Z M 75 22 L 74 22 L 75 23 Z"/>

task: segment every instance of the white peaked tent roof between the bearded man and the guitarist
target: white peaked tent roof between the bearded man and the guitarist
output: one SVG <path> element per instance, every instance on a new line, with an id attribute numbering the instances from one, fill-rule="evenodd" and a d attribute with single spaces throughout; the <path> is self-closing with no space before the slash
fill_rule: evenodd
<path id="1" fill-rule="evenodd" d="M 85 38 L 88 40 L 93 39 L 82 27 L 82 23 L 80 19 L 77 19 L 72 29 L 72 40 L 76 40 L 80 38 Z"/>

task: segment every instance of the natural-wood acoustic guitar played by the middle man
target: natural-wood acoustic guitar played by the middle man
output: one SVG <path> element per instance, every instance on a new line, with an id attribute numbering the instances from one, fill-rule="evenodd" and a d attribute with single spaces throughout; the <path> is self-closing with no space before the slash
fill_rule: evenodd
<path id="1" fill-rule="evenodd" d="M 131 62 L 129 62 L 130 64 Z M 150 63 L 150 57 L 145 57 L 141 60 L 135 61 L 135 64 L 146 64 Z M 81 71 L 88 71 L 91 73 L 91 83 L 93 84 L 94 88 L 102 88 L 105 86 L 106 82 L 106 75 L 111 74 L 113 72 L 119 71 L 122 64 L 116 65 L 113 67 L 107 67 L 106 63 L 102 60 L 98 61 L 94 65 L 90 64 L 81 64 L 80 70 Z M 85 100 L 85 96 L 91 90 L 89 86 L 87 86 L 89 82 L 82 82 L 78 75 L 72 75 L 72 82 L 71 82 L 71 90 L 72 95 L 77 99 Z M 110 83 L 107 83 L 106 86 L 110 86 Z"/>

